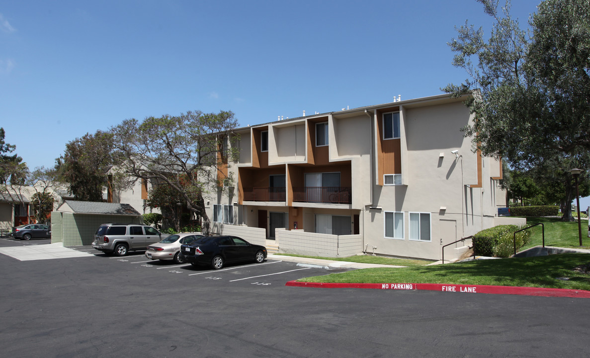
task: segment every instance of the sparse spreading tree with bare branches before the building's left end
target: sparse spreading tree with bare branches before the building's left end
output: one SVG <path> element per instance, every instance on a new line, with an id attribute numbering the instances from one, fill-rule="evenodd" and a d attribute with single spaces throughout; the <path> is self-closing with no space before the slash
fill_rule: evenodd
<path id="1" fill-rule="evenodd" d="M 237 135 L 231 111 L 188 111 L 180 116 L 148 117 L 123 121 L 113 127 L 113 145 L 126 160 L 119 167 L 133 178 L 166 184 L 182 196 L 181 204 L 204 221 L 209 229 L 205 199 L 228 193 L 234 178 L 224 175 L 228 163 L 237 160 L 230 146 Z"/>

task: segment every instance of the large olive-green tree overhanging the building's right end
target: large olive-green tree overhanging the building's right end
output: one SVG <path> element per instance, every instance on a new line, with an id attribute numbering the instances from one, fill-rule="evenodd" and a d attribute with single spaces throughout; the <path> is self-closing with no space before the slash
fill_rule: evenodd
<path id="1" fill-rule="evenodd" d="M 474 90 L 466 102 L 474 121 L 464 128 L 474 149 L 517 170 L 552 163 L 565 188 L 561 201 L 569 204 L 575 198 L 569 169 L 590 167 L 590 2 L 543 1 L 527 33 L 510 16 L 509 1 L 501 14 L 499 0 L 477 1 L 494 27 L 487 40 L 468 22 L 457 29 L 449 43 L 453 64 L 470 78 L 444 90 L 454 96 Z M 588 170 L 580 177 L 586 180 Z"/>

